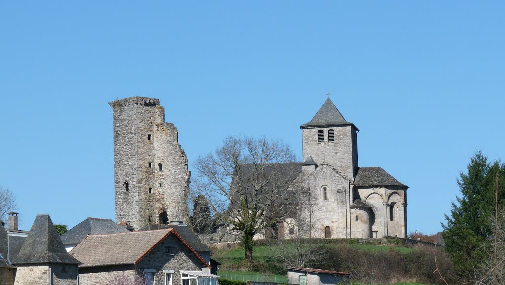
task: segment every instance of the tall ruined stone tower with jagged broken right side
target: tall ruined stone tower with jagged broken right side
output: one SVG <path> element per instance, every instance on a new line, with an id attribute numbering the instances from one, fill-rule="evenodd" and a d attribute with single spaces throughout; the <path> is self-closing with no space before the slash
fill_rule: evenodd
<path id="1" fill-rule="evenodd" d="M 186 220 L 188 160 L 177 129 L 165 123 L 159 99 L 130 97 L 114 109 L 116 221 L 135 230 L 147 223 Z"/>

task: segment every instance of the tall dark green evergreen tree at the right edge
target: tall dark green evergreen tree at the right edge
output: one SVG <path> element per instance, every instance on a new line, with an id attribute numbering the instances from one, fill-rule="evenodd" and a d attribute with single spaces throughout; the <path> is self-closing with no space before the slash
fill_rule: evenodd
<path id="1" fill-rule="evenodd" d="M 442 236 L 445 251 L 451 256 L 456 269 L 469 278 L 475 276 L 477 268 L 489 253 L 484 250 L 492 241 L 494 227 L 494 192 L 496 173 L 501 178 L 505 167 L 499 161 L 492 165 L 487 157 L 478 151 L 471 158 L 467 173 L 460 173 L 458 187 L 461 196 L 452 202 L 450 217 L 445 215 L 447 223 Z M 500 179 L 503 185 L 503 179 Z M 498 193 L 498 205 L 503 206 L 505 198 Z M 500 207 L 500 206 L 499 206 Z"/>

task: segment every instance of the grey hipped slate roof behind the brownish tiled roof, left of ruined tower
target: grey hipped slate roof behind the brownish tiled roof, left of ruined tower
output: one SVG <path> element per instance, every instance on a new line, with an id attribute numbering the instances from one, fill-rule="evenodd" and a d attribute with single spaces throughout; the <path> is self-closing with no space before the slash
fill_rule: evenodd
<path id="1" fill-rule="evenodd" d="M 77 245 L 88 234 L 120 233 L 128 230 L 113 220 L 87 218 L 60 236 L 63 245 Z"/>

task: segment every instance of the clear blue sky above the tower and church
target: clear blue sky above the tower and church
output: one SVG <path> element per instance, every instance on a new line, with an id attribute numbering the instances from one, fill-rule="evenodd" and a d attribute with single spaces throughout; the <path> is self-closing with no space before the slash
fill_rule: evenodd
<path id="1" fill-rule="evenodd" d="M 503 157 L 502 1 L 0 2 L 0 185 L 21 228 L 114 219 L 112 108 L 156 97 L 189 158 L 228 135 L 301 156 L 326 99 L 359 165 L 408 190 L 409 231 L 441 229 L 471 155 Z"/>

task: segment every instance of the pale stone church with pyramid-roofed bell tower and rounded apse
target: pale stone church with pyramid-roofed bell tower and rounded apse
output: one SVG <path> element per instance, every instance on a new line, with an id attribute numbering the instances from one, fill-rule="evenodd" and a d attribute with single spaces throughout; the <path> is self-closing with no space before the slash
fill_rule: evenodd
<path id="1" fill-rule="evenodd" d="M 290 188 L 310 189 L 313 237 L 407 237 L 407 185 L 380 167 L 358 166 L 358 128 L 328 98 L 301 125 L 303 161 Z M 300 188 L 301 187 L 301 188 Z M 296 231 L 286 219 L 278 236 Z"/>

